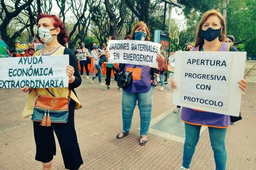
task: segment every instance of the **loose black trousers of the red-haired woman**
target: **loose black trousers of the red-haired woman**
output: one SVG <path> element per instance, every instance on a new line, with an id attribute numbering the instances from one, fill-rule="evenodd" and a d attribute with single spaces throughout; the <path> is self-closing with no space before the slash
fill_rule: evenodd
<path id="1" fill-rule="evenodd" d="M 82 164 L 82 156 L 77 142 L 74 123 L 75 101 L 69 103 L 68 123 L 52 123 L 51 127 L 42 127 L 40 122 L 33 122 L 36 145 L 35 160 L 44 163 L 50 162 L 56 155 L 55 132 L 66 169 L 78 169 Z"/>

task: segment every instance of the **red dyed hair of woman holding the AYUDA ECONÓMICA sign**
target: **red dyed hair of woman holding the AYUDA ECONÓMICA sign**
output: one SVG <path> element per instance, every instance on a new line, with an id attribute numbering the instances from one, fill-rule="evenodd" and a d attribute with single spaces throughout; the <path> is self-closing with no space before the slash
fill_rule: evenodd
<path id="1" fill-rule="evenodd" d="M 60 28 L 60 32 L 58 34 L 58 37 L 57 37 L 57 40 L 58 42 L 63 45 L 64 47 L 66 47 L 66 43 L 69 42 L 69 34 L 68 32 L 66 31 L 66 28 L 65 28 L 65 24 L 60 20 L 59 17 L 57 17 L 56 15 L 48 15 L 48 14 L 39 14 L 38 15 L 38 21 L 41 19 L 41 18 L 45 18 L 45 17 L 48 17 L 48 18 L 52 18 L 54 21 L 53 21 L 53 26 L 54 28 Z"/>

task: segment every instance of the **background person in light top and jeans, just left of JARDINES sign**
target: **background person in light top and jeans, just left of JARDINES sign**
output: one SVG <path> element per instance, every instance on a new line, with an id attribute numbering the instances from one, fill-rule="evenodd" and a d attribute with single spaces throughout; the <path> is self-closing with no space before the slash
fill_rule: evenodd
<path id="1" fill-rule="evenodd" d="M 90 80 L 90 83 L 94 84 L 94 79 L 96 77 L 99 78 L 99 85 L 102 85 L 102 86 L 105 86 L 105 84 L 101 83 L 101 66 L 99 65 L 99 60 L 100 60 L 100 57 L 105 54 L 104 51 L 102 51 L 101 49 L 97 48 L 96 46 L 96 43 L 93 43 L 92 45 L 92 56 L 93 56 L 93 78 L 92 79 L 89 79 Z M 97 70 L 97 73 L 96 73 L 96 70 Z"/>

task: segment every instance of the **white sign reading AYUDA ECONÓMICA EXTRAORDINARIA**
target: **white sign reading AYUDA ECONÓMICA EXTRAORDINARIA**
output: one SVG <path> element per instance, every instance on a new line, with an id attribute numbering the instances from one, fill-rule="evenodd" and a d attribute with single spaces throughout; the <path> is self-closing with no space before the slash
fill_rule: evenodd
<path id="1" fill-rule="evenodd" d="M 0 58 L 0 88 L 68 87 L 69 55 Z"/>

